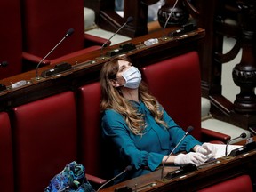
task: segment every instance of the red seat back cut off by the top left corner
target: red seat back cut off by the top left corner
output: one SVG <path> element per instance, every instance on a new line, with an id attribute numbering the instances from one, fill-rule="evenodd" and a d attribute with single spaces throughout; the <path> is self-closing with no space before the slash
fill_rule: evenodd
<path id="1" fill-rule="evenodd" d="M 0 79 L 21 73 L 22 33 L 20 1 L 0 1 L 0 63 L 7 61 L 7 67 L 0 66 Z M 7 85 L 7 84 L 5 84 Z"/>

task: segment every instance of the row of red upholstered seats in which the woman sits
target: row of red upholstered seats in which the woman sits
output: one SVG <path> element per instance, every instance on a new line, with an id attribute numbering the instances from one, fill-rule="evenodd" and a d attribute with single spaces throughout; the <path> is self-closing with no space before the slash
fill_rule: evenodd
<path id="1" fill-rule="evenodd" d="M 191 134 L 196 139 L 222 143 L 230 139 L 228 135 L 201 128 L 197 52 L 184 53 L 140 70 L 149 91 L 177 124 L 185 130 L 188 125 L 194 127 Z M 100 98 L 100 83 L 94 81 L 1 113 L 0 124 L 1 116 L 7 122 L 5 128 L 1 127 L 1 134 L 5 129 L 7 137 L 0 148 L 7 163 L 1 164 L 0 175 L 6 180 L 8 176 L 8 182 L 0 180 L 2 188 L 10 189 L 8 186 L 13 183 L 13 189 L 8 191 L 43 191 L 53 176 L 74 160 L 84 164 L 86 173 L 104 179 L 96 181 L 109 180 L 112 172 L 107 159 L 111 161 L 108 154 L 111 149 L 106 150 L 101 138 Z"/>

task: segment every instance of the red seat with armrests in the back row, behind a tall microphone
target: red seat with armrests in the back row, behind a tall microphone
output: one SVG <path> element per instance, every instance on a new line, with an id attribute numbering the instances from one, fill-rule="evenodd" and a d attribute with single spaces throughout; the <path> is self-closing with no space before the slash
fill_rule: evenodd
<path id="1" fill-rule="evenodd" d="M 71 56 L 92 52 L 100 49 L 101 44 L 107 41 L 101 37 L 84 35 L 83 1 L 68 0 L 63 4 L 62 0 L 21 0 L 21 5 L 23 57 L 27 63 L 29 60 L 37 64 L 42 60 L 69 28 L 74 28 L 74 34 L 68 36 L 42 65 L 56 63 L 60 57 L 63 61 Z M 68 55 L 69 53 L 73 54 Z"/>

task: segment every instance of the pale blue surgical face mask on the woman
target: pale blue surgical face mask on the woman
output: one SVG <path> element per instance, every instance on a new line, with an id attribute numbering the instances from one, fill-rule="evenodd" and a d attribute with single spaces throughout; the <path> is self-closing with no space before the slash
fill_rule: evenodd
<path id="1" fill-rule="evenodd" d="M 124 87 L 131 88 L 131 89 L 137 89 L 141 82 L 141 74 L 138 68 L 135 68 L 132 66 L 131 68 L 128 68 L 124 73 L 122 74 L 125 80 Z"/>

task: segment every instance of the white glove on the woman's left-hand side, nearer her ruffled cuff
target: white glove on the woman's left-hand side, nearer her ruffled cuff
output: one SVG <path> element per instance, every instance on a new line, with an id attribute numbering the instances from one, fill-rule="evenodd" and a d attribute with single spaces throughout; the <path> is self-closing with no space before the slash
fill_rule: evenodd
<path id="1" fill-rule="evenodd" d="M 188 154 L 179 154 L 174 158 L 174 164 L 195 164 L 199 166 L 204 164 L 207 160 L 207 157 L 201 153 L 190 152 Z"/>

